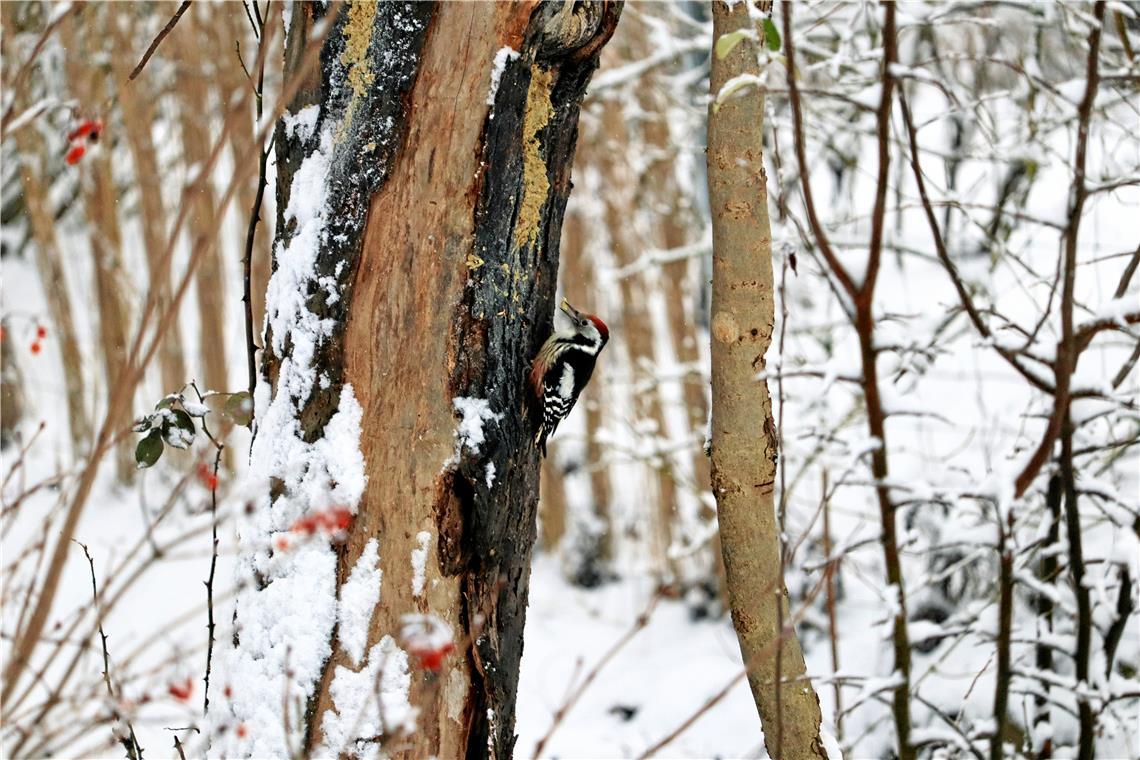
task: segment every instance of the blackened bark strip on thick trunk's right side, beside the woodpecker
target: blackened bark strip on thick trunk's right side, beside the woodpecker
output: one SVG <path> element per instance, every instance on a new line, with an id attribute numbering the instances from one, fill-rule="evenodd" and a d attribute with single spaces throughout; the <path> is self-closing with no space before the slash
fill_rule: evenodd
<path id="1" fill-rule="evenodd" d="M 475 206 L 475 260 L 456 332 L 455 395 L 505 410 L 478 460 L 459 463 L 453 504 L 464 510 L 462 594 L 475 668 L 467 757 L 510 757 L 536 538 L 539 457 L 524 377 L 551 332 L 559 240 L 578 112 L 620 3 L 578 3 L 577 19 L 546 3 L 503 73 L 483 128 L 486 173 Z M 585 31 L 584 31 L 585 30 Z M 496 473 L 488 482 L 488 467 Z M 489 718 L 494 716 L 494 719 Z"/>

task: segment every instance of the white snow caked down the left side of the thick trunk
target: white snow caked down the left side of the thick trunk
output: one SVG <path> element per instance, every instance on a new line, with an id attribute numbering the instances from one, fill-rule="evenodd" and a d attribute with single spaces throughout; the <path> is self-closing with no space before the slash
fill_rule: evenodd
<path id="1" fill-rule="evenodd" d="M 359 659 L 367 639 L 367 620 L 339 605 L 337 556 L 329 537 L 287 540 L 301 517 L 333 508 L 356 512 L 366 476 L 360 452 L 363 409 L 352 386 L 341 389 L 337 411 L 324 435 L 310 443 L 303 439 L 298 411 L 316 383 L 312 352 L 331 325 L 311 313 L 304 294 L 315 285 L 315 263 L 325 235 L 326 178 L 332 133 L 325 130 L 320 147 L 298 169 L 285 211 L 296 234 L 279 244 L 277 269 L 266 300 L 266 321 L 272 330 L 275 351 L 290 354 L 282 361 L 276 395 L 263 379 L 254 393 L 258 434 L 250 455 L 247 488 L 260 492 L 253 509 L 238 520 L 237 570 L 239 593 L 235 602 L 238 647 L 220 645 L 218 671 L 239 685 L 225 709 L 207 716 L 210 752 L 222 757 L 288 754 L 300 741 L 303 711 L 292 711 L 286 726 L 280 716 L 283 700 L 306 704 L 332 648 L 339 620 L 348 623 L 344 638 L 349 654 Z M 269 483 L 278 496 L 270 499 Z M 276 546 L 272 537 L 283 540 Z M 359 577 L 342 590 L 342 599 L 378 594 L 378 569 L 372 556 L 353 570 Z M 361 635 L 361 629 L 364 634 Z M 337 684 L 334 680 L 334 688 Z M 345 697 L 347 698 L 347 697 Z M 247 736 L 238 739 L 223 726 L 243 724 Z"/>

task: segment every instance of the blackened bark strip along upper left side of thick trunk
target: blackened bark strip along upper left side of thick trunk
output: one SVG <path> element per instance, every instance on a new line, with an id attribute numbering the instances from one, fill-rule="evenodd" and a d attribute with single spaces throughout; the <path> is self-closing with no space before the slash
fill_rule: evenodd
<path id="1" fill-rule="evenodd" d="M 315 271 L 318 279 L 331 278 L 325 281 L 332 283 L 332 287 L 312 287 L 306 294 L 309 311 L 333 325 L 328 340 L 312 357 L 312 366 L 319 367 L 328 382 L 315 387 L 301 409 L 301 430 L 308 442 L 320 438 L 325 424 L 336 414 L 344 385 L 344 329 L 368 204 L 388 179 L 407 130 L 405 98 L 415 83 L 433 8 L 429 2 L 381 2 L 342 9 L 320 51 L 319 82 L 302 87 L 290 104 L 294 116 L 306 107 L 316 106 L 319 111 L 315 126 L 302 134 L 295 128 L 287 129 L 284 120 L 277 124 L 277 246 L 288 245 L 295 231 L 294 224 L 286 222 L 294 173 L 304 158 L 320 148 L 325 123 L 339 125 L 327 193 L 328 231 L 320 244 Z M 286 79 L 301 65 L 306 41 L 326 10 L 320 3 L 296 8 L 299 17 L 288 31 L 285 52 Z M 374 17 L 361 18 L 361 13 Z M 386 62 L 394 64 L 382 62 L 385 56 Z M 352 57 L 361 58 L 361 68 L 369 74 L 367 81 L 355 80 L 361 68 L 349 65 Z M 280 360 L 291 353 L 292 346 L 286 345 L 282 356 L 276 356 L 271 326 L 267 327 L 264 345 L 263 374 L 276 391 Z"/>

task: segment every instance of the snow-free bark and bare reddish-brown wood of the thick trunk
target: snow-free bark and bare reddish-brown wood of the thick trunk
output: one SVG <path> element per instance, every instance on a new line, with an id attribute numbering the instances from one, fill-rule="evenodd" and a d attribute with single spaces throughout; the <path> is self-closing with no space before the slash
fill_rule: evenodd
<path id="1" fill-rule="evenodd" d="M 551 329 L 578 103 L 619 9 L 350 3 L 290 108 L 318 104 L 316 132 L 326 117 L 340 129 L 316 264 L 332 285 L 307 304 L 331 320 L 312 358 L 327 384 L 299 414 L 306 440 L 321 438 L 347 383 L 364 411 L 368 487 L 339 550 L 339 580 L 376 539 L 384 575 L 369 645 L 401 615 L 431 612 L 461 646 L 438 675 L 416 673 L 418 728 L 385 747 L 401 757 L 512 753 L 539 473 L 526 370 Z M 294 8 L 286 77 L 320 13 Z M 504 46 L 520 57 L 491 111 L 489 75 Z M 329 71 L 349 58 L 361 75 L 333 82 Z M 317 146 L 284 126 L 276 140 L 282 240 L 293 174 Z M 274 383 L 291 348 L 275 356 L 270 337 L 263 369 Z M 456 397 L 502 415 L 478 452 L 456 451 Z M 418 531 L 435 534 L 435 562 L 415 597 Z M 306 714 L 310 749 L 348 662 L 334 643 Z"/>

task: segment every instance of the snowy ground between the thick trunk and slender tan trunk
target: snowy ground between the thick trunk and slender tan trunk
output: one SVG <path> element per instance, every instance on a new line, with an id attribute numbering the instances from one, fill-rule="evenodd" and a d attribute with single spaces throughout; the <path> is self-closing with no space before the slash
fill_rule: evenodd
<path id="1" fill-rule="evenodd" d="M 636 579 L 593 590 L 573 588 L 552 557 L 538 557 L 519 684 L 519 757 L 532 755 L 567 695 L 634 628 L 652 596 Z M 597 671 L 543 754 L 636 757 L 740 673 L 740 648 L 727 618 L 692 621 L 684 603 L 662 600 L 649 624 Z M 766 757 L 763 743 L 748 683 L 739 679 L 659 757 Z"/>

